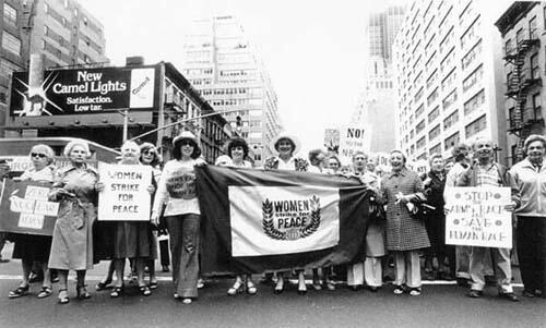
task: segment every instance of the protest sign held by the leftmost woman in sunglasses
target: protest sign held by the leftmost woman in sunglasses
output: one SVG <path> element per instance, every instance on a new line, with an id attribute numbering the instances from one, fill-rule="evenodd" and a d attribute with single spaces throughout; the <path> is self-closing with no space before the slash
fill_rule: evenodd
<path id="1" fill-rule="evenodd" d="M 0 197 L 0 231 L 52 235 L 59 204 L 49 202 L 50 183 L 5 179 Z"/>

